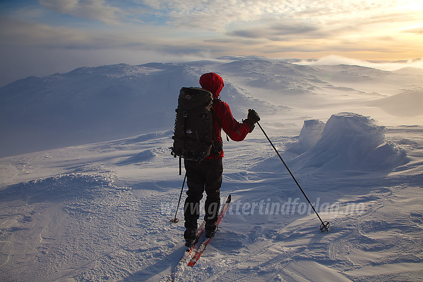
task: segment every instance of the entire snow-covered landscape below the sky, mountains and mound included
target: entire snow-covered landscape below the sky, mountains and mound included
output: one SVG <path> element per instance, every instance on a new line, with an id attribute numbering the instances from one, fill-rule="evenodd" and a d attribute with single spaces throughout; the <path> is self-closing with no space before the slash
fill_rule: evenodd
<path id="1" fill-rule="evenodd" d="M 0 88 L 0 281 L 169 274 L 184 252 L 182 207 L 181 222 L 169 221 L 183 181 L 168 150 L 174 109 L 179 89 L 206 71 L 225 80 L 235 118 L 257 110 L 330 228 L 319 231 L 256 127 L 224 142 L 221 197 L 232 203 L 177 281 L 423 280 L 422 73 L 225 57 L 79 68 Z"/>

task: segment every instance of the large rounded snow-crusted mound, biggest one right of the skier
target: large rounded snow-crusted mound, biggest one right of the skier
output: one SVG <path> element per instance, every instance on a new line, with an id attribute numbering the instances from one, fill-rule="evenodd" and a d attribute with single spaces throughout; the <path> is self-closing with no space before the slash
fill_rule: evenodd
<path id="1" fill-rule="evenodd" d="M 306 167 L 331 171 L 393 169 L 404 162 L 406 153 L 385 140 L 385 131 L 385 126 L 376 125 L 367 116 L 350 112 L 333 114 L 317 143 L 291 163 L 296 170 Z M 318 130 L 305 132 L 303 144 L 314 142 L 319 134 Z"/>

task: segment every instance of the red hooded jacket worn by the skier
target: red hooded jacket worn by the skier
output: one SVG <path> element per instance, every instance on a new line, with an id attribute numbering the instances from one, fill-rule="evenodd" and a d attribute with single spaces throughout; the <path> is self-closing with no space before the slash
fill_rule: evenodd
<path id="1" fill-rule="evenodd" d="M 203 89 L 210 91 L 213 98 L 219 98 L 220 91 L 224 86 L 223 79 L 215 73 L 207 73 L 200 77 L 200 85 Z M 222 142 L 221 130 L 229 136 L 233 141 L 242 141 L 250 131 L 247 123 L 239 123 L 233 118 L 229 105 L 221 100 L 214 100 L 213 111 L 216 113 L 217 121 L 213 116 L 213 130 L 215 141 Z M 223 150 L 219 155 L 210 155 L 207 159 L 223 158 Z"/>

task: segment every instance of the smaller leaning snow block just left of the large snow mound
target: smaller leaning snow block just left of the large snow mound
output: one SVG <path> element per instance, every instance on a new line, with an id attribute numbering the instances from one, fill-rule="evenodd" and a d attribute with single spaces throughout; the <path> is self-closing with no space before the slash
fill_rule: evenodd
<path id="1" fill-rule="evenodd" d="M 301 128 L 298 142 L 288 149 L 289 152 L 302 154 L 307 150 L 313 148 L 321 137 L 323 132 L 324 122 L 318 119 L 305 120 L 303 128 Z"/>

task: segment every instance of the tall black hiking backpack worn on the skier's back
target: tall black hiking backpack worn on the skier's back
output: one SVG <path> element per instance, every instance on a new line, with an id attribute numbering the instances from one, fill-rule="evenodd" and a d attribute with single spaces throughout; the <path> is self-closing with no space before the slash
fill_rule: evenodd
<path id="1" fill-rule="evenodd" d="M 171 154 L 200 163 L 212 150 L 213 96 L 197 87 L 183 87 L 179 92 L 178 108 Z M 181 174 L 181 165 L 180 171 Z"/>

